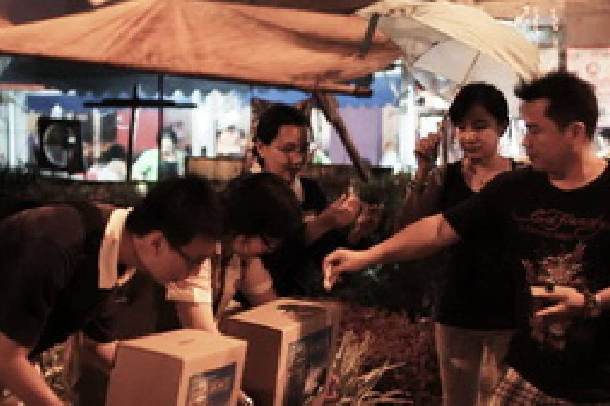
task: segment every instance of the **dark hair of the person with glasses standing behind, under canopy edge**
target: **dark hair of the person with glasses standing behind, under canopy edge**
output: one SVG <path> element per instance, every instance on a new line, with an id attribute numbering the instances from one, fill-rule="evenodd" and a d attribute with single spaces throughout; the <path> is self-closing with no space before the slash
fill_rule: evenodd
<path id="1" fill-rule="evenodd" d="M 309 119 L 295 107 L 275 103 L 260 114 L 256 124 L 256 139 L 265 145 L 271 144 L 278 136 L 279 127 L 282 125 L 309 128 Z"/>

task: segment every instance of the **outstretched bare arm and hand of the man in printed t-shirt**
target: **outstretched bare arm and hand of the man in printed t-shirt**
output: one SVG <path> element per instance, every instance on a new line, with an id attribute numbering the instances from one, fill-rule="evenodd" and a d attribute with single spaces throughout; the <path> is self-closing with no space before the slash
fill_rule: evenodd
<path id="1" fill-rule="evenodd" d="M 371 264 L 419 259 L 458 240 L 458 234 L 442 214 L 425 217 L 367 250 L 336 250 L 326 256 L 325 287 L 332 287 L 341 272 L 361 270 Z"/>

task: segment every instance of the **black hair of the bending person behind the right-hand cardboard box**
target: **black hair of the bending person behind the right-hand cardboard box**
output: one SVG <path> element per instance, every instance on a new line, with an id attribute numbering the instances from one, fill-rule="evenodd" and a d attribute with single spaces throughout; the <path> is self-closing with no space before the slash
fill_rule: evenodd
<path id="1" fill-rule="evenodd" d="M 226 232 L 282 240 L 303 227 L 303 212 L 294 192 L 269 172 L 232 180 L 223 193 Z"/>

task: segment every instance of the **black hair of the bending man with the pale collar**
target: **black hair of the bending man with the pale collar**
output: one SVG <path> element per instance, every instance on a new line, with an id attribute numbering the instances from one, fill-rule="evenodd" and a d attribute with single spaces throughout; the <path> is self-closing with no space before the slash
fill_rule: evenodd
<path id="1" fill-rule="evenodd" d="M 217 239 L 222 214 L 209 181 L 188 175 L 161 181 L 136 206 L 125 223 L 129 232 L 142 236 L 160 231 L 173 247 L 194 237 Z"/>

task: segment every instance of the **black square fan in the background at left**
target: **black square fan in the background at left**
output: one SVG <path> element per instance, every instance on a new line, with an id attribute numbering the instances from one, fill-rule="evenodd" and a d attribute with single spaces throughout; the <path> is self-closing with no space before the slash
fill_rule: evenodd
<path id="1" fill-rule="evenodd" d="M 82 159 L 81 122 L 68 119 L 38 119 L 38 167 L 79 172 Z"/>

